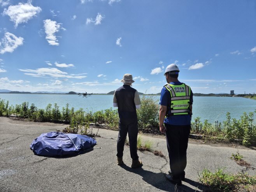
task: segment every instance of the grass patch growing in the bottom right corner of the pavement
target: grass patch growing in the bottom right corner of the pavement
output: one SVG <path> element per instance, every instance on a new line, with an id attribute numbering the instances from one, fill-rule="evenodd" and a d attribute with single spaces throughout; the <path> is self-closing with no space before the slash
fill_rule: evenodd
<path id="1" fill-rule="evenodd" d="M 212 192 L 234 192 L 241 189 L 250 191 L 256 186 L 256 175 L 249 176 L 248 173 L 224 173 L 226 168 L 217 168 L 215 173 L 204 168 L 198 173 L 200 182 Z"/>

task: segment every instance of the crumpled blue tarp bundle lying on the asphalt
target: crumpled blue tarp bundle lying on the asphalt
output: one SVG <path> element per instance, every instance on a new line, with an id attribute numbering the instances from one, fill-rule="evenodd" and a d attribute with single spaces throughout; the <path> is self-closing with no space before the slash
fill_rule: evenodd
<path id="1" fill-rule="evenodd" d="M 77 155 L 96 145 L 96 141 L 86 135 L 49 132 L 33 140 L 30 148 L 37 155 L 65 156 Z"/>

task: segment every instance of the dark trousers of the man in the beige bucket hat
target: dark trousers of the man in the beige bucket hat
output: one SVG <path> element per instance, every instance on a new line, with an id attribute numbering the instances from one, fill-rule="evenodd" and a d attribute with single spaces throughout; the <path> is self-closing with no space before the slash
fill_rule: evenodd
<path id="1" fill-rule="evenodd" d="M 137 136 L 138 120 L 136 119 L 119 119 L 119 133 L 117 139 L 117 157 L 123 157 L 124 143 L 126 136 L 129 136 L 130 153 L 132 160 L 138 159 L 137 154 Z"/>

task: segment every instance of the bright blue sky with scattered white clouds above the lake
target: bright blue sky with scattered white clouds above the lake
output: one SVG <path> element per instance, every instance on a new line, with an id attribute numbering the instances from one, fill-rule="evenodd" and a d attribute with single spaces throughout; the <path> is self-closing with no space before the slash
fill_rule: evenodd
<path id="1" fill-rule="evenodd" d="M 256 93 L 255 0 L 0 0 L 0 89 Z"/>

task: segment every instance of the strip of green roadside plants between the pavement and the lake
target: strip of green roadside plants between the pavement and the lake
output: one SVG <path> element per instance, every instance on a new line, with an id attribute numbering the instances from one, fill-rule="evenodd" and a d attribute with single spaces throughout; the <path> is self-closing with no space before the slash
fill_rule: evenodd
<path id="1" fill-rule="evenodd" d="M 159 99 L 155 96 L 141 97 L 141 108 L 137 110 L 139 131 L 143 133 L 159 134 Z M 255 110 L 256 112 L 256 110 Z M 85 112 L 82 108 L 75 111 L 69 108 L 67 104 L 60 108 L 57 103 L 47 105 L 46 109 L 39 109 L 33 103 L 29 106 L 28 102 L 21 105 L 9 106 L 9 101 L 0 99 L 0 116 L 17 115 L 19 118 L 33 121 L 62 122 L 70 124 L 68 132 L 75 133 L 83 129 L 88 132 L 89 123 L 105 124 L 109 129 L 118 129 L 118 111 L 112 108 L 97 112 Z M 77 128 L 83 127 L 83 128 Z M 245 146 L 256 147 L 256 124 L 254 112 L 244 113 L 240 119 L 231 119 L 229 112 L 226 114 L 226 120 L 216 121 L 214 124 L 205 120 L 200 121 L 196 117 L 191 123 L 191 133 L 197 134 L 204 141 L 227 141 L 240 143 Z"/>

